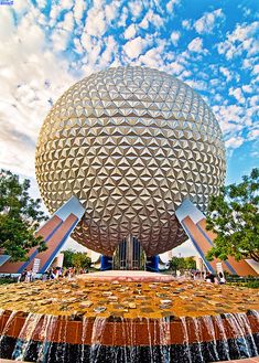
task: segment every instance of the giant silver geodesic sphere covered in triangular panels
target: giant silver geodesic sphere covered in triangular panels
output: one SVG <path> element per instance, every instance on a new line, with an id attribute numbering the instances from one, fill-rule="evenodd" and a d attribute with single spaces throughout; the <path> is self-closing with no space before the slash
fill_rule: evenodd
<path id="1" fill-rule="evenodd" d="M 76 195 L 85 206 L 73 237 L 111 255 L 128 235 L 149 256 L 186 239 L 175 209 L 204 211 L 225 178 L 217 120 L 191 87 L 151 68 L 118 67 L 72 86 L 47 115 L 36 178 L 50 212 Z"/>

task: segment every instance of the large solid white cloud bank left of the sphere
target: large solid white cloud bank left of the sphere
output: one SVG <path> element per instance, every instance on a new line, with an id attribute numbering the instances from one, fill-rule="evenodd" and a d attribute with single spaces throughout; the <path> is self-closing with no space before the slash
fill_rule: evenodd
<path id="1" fill-rule="evenodd" d="M 48 51 L 51 43 L 37 25 L 39 10 L 30 4 L 22 13 L 15 31 L 0 42 L 0 164 L 32 177 L 35 141 L 50 99 L 56 99 L 75 79 L 68 62 L 55 49 Z"/>

